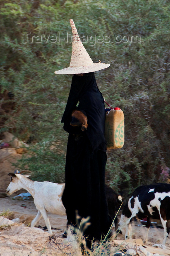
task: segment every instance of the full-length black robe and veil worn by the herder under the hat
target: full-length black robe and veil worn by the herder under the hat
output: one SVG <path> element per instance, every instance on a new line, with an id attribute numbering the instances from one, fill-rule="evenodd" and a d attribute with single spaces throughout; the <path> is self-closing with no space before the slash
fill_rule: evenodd
<path id="1" fill-rule="evenodd" d="M 87 115 L 86 131 L 70 125 L 71 113 L 78 101 L 78 110 L 84 110 Z M 84 231 L 84 236 L 88 240 L 101 240 L 109 231 L 112 219 L 105 195 L 105 106 L 94 72 L 73 75 L 62 122 L 69 133 L 62 198 L 68 225 L 76 226 L 76 212 L 82 218 L 90 216 L 91 225 Z M 80 134 L 78 140 L 75 140 L 75 134 Z"/>

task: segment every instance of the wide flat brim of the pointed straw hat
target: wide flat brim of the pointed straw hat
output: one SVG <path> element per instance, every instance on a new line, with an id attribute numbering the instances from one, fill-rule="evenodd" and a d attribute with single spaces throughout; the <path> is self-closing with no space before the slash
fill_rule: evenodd
<path id="1" fill-rule="evenodd" d="M 101 69 L 108 68 L 109 66 L 110 64 L 99 62 L 89 66 L 63 68 L 55 71 L 54 73 L 55 74 L 84 74 L 84 73 L 99 71 Z"/>

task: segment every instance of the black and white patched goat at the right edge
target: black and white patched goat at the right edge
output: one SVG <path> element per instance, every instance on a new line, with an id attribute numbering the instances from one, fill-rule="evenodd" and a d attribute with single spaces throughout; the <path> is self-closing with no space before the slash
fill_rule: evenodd
<path id="1" fill-rule="evenodd" d="M 143 185 L 132 193 L 132 196 L 122 211 L 121 219 L 118 223 L 119 230 L 122 230 L 124 226 L 126 227 L 125 239 L 128 235 L 131 238 L 132 228 L 130 221 L 133 217 L 137 217 L 138 219 L 147 217 L 146 227 L 148 227 L 148 231 L 151 224 L 150 219 L 160 219 L 164 228 L 162 244 L 165 245 L 170 233 L 167 223 L 170 220 L 170 184 L 157 183 Z"/>

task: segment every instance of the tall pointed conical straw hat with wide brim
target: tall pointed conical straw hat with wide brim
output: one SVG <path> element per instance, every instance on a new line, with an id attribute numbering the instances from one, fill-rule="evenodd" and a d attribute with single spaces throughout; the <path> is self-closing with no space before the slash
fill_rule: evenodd
<path id="1" fill-rule="evenodd" d="M 93 63 L 88 52 L 84 48 L 82 41 L 79 38 L 78 31 L 72 19 L 70 19 L 70 25 L 72 28 L 72 55 L 68 68 L 55 71 L 55 74 L 83 74 L 88 72 L 98 71 L 104 68 L 108 68 L 110 64 L 106 63 Z"/>

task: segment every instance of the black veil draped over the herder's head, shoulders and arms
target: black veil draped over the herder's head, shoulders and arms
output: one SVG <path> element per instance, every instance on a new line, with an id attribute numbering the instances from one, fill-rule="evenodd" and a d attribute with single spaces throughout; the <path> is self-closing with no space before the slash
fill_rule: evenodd
<path id="1" fill-rule="evenodd" d="M 64 123 L 65 131 L 73 134 L 80 132 L 79 127 L 70 125 L 71 113 L 76 108 L 78 101 L 78 110 L 83 110 L 87 115 L 88 128 L 84 133 L 87 134 L 92 149 L 99 147 L 102 151 L 106 151 L 105 105 L 94 72 L 72 77 L 71 89 L 61 122 Z"/>

